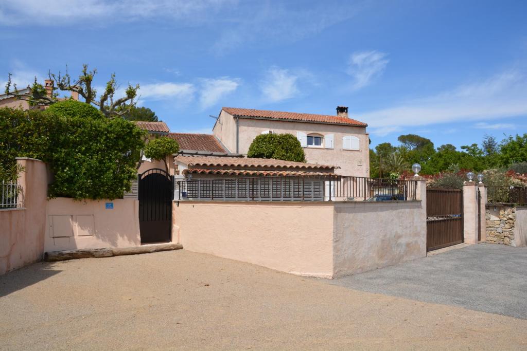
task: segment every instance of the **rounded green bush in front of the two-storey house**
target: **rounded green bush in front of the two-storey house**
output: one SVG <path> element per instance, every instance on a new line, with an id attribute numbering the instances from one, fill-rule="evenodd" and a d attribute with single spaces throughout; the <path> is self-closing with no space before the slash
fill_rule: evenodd
<path id="1" fill-rule="evenodd" d="M 304 149 L 292 134 L 261 134 L 249 146 L 247 157 L 306 162 Z"/>

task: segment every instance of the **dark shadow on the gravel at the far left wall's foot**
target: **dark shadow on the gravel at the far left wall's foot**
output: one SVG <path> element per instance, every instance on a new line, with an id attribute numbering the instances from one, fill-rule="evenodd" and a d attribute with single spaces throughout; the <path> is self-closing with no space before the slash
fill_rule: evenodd
<path id="1" fill-rule="evenodd" d="M 0 275 L 0 297 L 9 295 L 17 290 L 41 282 L 55 274 L 62 272 L 53 269 L 53 263 L 38 262 L 30 266 L 13 270 Z"/>

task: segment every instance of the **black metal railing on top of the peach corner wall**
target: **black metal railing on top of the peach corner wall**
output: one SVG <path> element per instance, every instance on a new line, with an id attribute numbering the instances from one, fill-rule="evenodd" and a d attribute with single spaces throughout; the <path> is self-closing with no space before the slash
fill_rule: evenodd
<path id="1" fill-rule="evenodd" d="M 349 176 L 274 176 L 177 182 L 180 200 L 387 201 L 414 200 L 414 180 Z"/>

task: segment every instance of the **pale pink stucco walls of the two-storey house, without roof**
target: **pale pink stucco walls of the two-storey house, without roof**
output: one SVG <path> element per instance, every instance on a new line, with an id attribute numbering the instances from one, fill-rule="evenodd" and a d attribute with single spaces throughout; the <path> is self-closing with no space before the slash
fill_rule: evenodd
<path id="1" fill-rule="evenodd" d="M 263 131 L 289 133 L 296 137 L 297 132 L 321 135 L 334 134 L 333 149 L 305 147 L 308 163 L 335 165 L 337 174 L 369 177 L 369 136 L 366 128 L 331 124 L 269 121 L 267 119 L 239 119 L 239 153 L 247 154 L 249 146 Z M 216 135 L 231 152 L 236 152 L 236 122 L 230 114 L 222 111 L 213 129 Z M 359 138 L 360 151 L 344 150 L 342 137 L 354 135 Z"/>

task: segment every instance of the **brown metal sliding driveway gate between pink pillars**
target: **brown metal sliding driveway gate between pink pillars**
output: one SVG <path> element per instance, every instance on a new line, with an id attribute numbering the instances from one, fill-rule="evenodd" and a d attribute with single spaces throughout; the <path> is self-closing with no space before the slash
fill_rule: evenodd
<path id="1" fill-rule="evenodd" d="M 426 190 L 426 250 L 463 243 L 463 192 Z"/>

